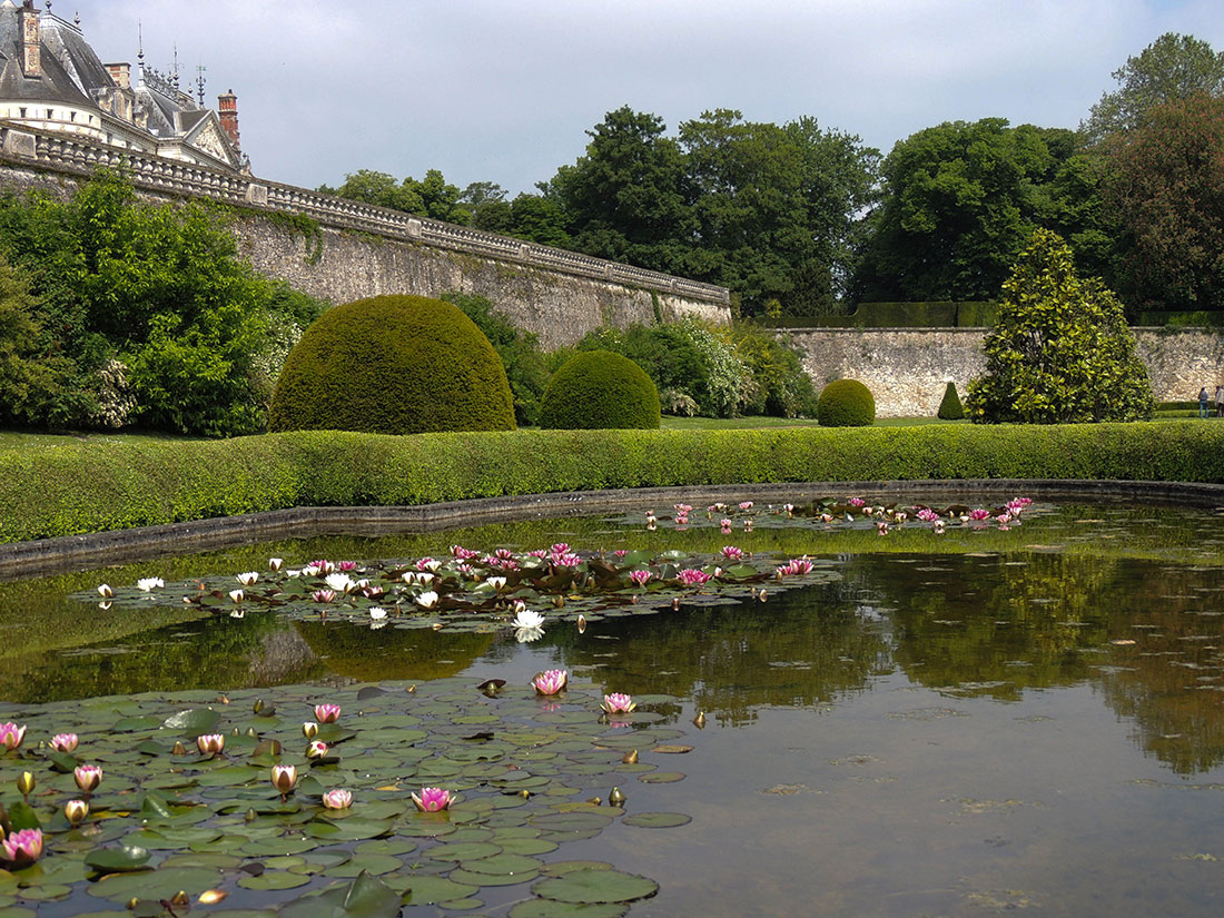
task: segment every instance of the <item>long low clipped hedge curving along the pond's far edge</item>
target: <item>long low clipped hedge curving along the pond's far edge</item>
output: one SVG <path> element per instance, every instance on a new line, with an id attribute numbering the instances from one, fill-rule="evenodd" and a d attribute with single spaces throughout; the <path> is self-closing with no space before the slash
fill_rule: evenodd
<path id="1" fill-rule="evenodd" d="M 0 541 L 288 507 L 608 487 L 925 479 L 1224 482 L 1224 424 L 733 431 L 301 431 L 0 450 Z"/>

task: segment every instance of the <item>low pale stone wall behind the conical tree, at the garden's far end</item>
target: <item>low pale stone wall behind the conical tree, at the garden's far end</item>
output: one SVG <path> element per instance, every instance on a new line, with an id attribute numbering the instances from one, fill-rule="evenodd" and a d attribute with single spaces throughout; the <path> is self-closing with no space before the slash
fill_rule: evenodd
<path id="1" fill-rule="evenodd" d="M 1157 401 L 1197 398 L 1224 383 L 1224 333 L 1137 328 L 1136 346 Z M 813 328 L 786 333 L 804 350 L 803 367 L 819 389 L 858 379 L 875 395 L 879 417 L 931 417 L 947 382 L 965 397 L 985 365 L 984 328 Z"/>

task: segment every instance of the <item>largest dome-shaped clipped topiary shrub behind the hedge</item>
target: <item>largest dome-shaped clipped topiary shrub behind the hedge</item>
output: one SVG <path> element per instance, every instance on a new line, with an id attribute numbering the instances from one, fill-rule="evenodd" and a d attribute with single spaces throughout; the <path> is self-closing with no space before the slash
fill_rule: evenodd
<path id="1" fill-rule="evenodd" d="M 425 296 L 337 306 L 289 353 L 272 431 L 514 430 L 506 367 L 458 307 Z"/>

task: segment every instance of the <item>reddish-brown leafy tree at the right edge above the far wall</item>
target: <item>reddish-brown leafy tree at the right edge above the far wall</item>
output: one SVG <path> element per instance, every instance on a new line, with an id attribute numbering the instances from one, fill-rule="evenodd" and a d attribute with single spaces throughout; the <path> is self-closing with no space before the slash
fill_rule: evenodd
<path id="1" fill-rule="evenodd" d="M 1224 98 L 1157 105 L 1102 144 L 1119 289 L 1148 310 L 1224 307 Z"/>

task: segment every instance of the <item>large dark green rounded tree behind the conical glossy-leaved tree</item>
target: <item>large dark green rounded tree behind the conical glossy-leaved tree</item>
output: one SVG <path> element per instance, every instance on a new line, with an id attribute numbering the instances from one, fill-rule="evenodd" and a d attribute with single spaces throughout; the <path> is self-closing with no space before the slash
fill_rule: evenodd
<path id="1" fill-rule="evenodd" d="M 928 127 L 884 160 L 851 284 L 858 301 L 988 300 L 1033 231 L 1056 225 L 1108 264 L 1108 235 L 1070 131 L 1001 118 Z"/>

